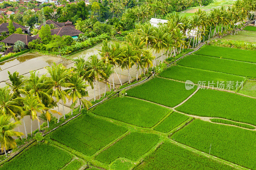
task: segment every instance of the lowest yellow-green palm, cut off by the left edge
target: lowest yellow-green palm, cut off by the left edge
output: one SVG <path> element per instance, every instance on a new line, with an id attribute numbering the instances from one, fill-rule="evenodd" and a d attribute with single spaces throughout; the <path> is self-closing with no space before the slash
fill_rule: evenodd
<path id="1" fill-rule="evenodd" d="M 6 150 L 8 150 L 10 147 L 12 149 L 16 148 L 16 142 L 15 139 L 13 139 L 13 136 L 21 137 L 24 135 L 21 132 L 13 131 L 14 128 L 20 125 L 20 121 L 10 122 L 10 119 L 10 116 L 0 116 L 0 144 L 1 150 L 2 152 L 4 151 L 6 156 Z"/>

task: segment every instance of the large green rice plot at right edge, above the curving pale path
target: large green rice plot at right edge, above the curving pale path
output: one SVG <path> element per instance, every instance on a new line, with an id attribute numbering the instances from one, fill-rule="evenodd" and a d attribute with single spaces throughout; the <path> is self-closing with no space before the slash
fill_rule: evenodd
<path id="1" fill-rule="evenodd" d="M 256 125 L 256 99 L 211 89 L 200 89 L 177 110 L 190 115 L 219 117 Z"/>

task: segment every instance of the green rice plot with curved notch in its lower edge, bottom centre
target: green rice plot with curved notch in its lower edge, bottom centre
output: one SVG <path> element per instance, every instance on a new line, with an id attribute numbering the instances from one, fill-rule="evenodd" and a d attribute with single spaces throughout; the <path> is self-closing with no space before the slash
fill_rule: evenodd
<path id="1" fill-rule="evenodd" d="M 131 133 L 96 156 L 96 160 L 110 164 L 117 158 L 137 160 L 148 152 L 159 140 L 155 134 Z"/>

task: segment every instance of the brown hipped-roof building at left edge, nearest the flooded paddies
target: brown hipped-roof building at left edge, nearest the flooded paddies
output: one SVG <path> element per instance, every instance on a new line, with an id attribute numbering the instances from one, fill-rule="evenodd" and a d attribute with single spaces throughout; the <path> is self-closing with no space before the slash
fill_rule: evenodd
<path id="1" fill-rule="evenodd" d="M 13 33 L 12 35 L 10 35 L 9 37 L 7 37 L 6 39 L 0 41 L 0 42 L 4 42 L 5 46 L 14 46 L 14 43 L 17 41 L 22 41 L 25 43 L 26 48 L 28 48 L 28 43 L 36 40 L 35 37 L 31 37 L 29 35 L 26 34 L 17 34 L 17 33 Z"/>

